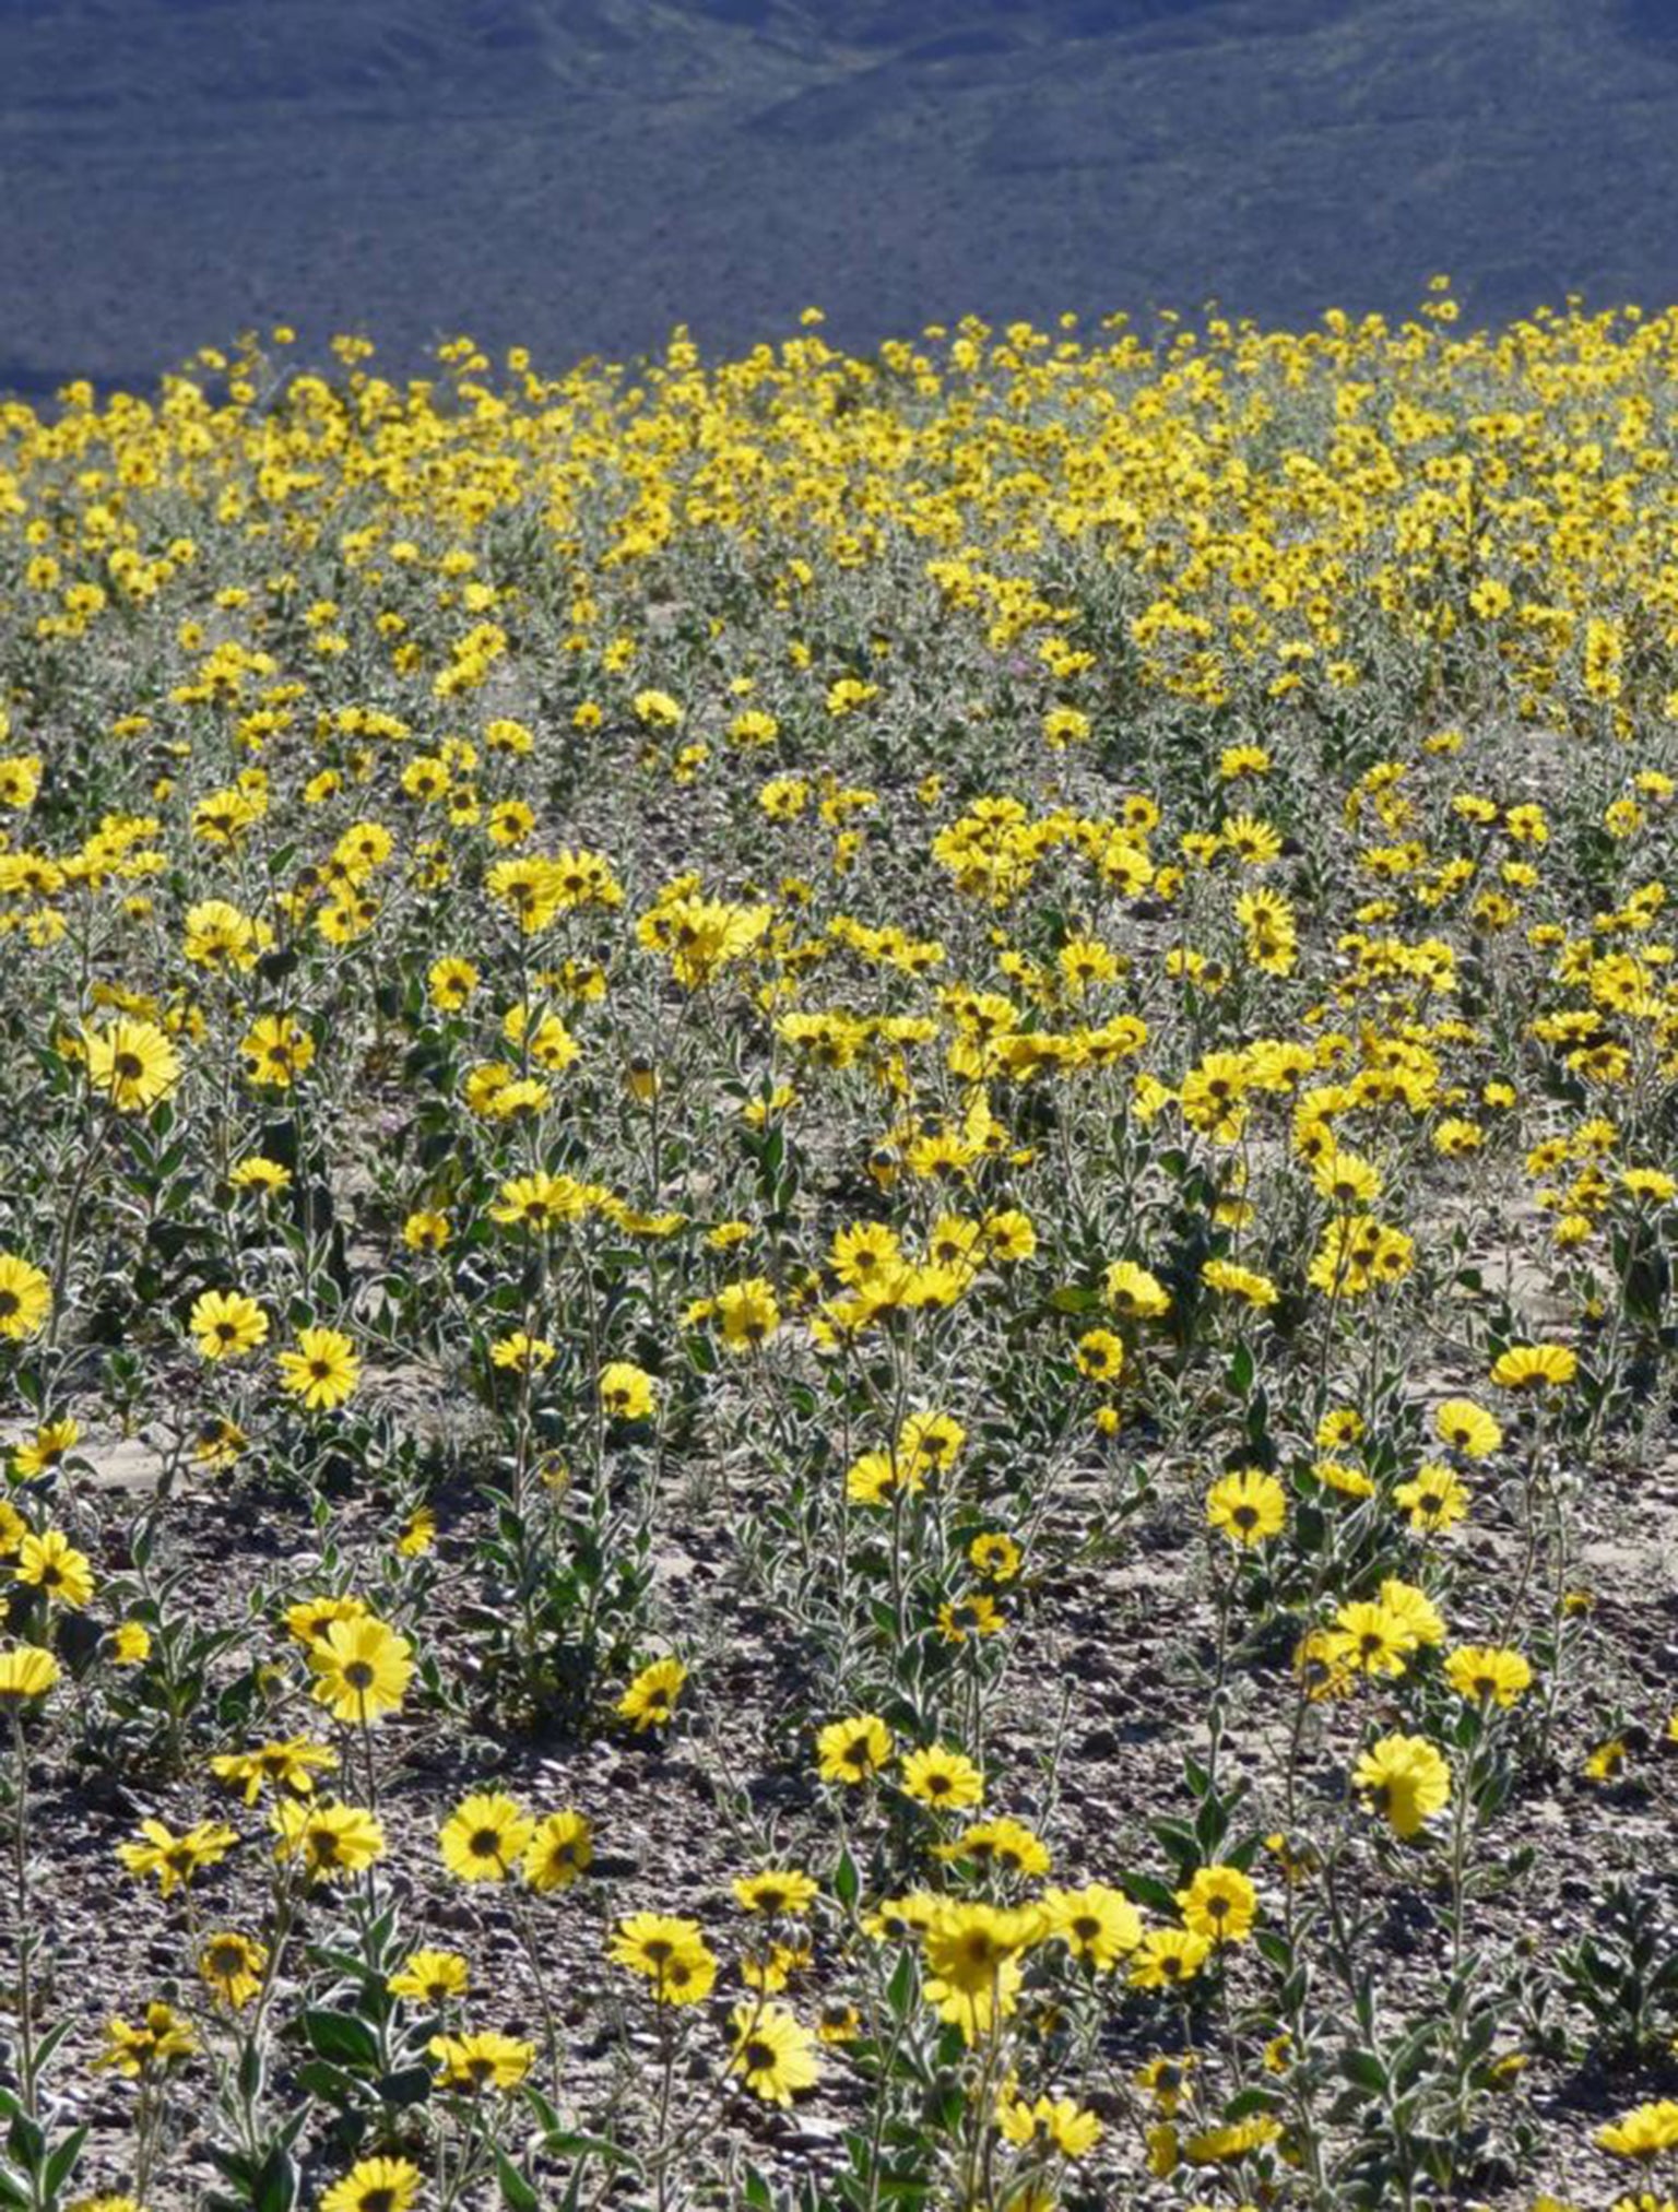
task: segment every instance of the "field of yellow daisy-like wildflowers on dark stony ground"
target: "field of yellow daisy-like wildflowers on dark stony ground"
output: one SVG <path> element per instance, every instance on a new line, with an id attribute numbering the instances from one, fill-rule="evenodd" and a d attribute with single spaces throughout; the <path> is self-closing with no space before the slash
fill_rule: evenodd
<path id="1" fill-rule="evenodd" d="M 0 2212 L 1678 2190 L 1678 312 L 0 407 Z"/>

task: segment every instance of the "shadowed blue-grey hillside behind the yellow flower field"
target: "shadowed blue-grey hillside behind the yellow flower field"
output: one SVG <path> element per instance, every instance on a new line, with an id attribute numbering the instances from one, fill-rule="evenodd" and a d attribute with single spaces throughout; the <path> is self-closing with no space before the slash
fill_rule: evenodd
<path id="1" fill-rule="evenodd" d="M 0 389 L 1678 296 L 1669 0 L 0 0 Z"/>

